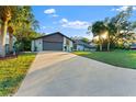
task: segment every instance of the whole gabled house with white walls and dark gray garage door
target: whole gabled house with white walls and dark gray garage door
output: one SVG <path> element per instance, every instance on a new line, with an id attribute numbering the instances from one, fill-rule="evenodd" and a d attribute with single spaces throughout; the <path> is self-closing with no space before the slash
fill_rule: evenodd
<path id="1" fill-rule="evenodd" d="M 32 52 L 64 50 L 72 52 L 73 41 L 60 32 L 37 37 L 32 41 Z"/>

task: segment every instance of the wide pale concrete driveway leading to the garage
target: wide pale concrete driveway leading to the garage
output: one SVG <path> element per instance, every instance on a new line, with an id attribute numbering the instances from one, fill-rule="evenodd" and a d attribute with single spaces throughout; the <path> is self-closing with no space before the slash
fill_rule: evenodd
<path id="1" fill-rule="evenodd" d="M 114 67 L 70 53 L 39 53 L 14 95 L 136 95 L 136 70 Z"/>

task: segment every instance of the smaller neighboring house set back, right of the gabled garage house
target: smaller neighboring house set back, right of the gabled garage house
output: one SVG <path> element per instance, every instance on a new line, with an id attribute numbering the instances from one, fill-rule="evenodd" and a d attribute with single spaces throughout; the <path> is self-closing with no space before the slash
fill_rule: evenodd
<path id="1" fill-rule="evenodd" d="M 75 41 L 75 50 L 95 50 L 95 46 L 82 42 L 81 39 Z"/>

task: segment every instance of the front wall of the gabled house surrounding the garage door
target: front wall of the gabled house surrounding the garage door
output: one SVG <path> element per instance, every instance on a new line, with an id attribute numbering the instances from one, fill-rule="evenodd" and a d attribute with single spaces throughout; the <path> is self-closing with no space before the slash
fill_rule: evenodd
<path id="1" fill-rule="evenodd" d="M 42 52 L 44 50 L 44 44 L 45 43 L 55 43 L 55 47 L 57 43 L 63 43 L 60 46 L 63 47 L 61 50 L 64 52 L 72 52 L 73 48 L 73 42 L 70 41 L 69 38 L 60 35 L 60 34 L 55 34 L 55 35 L 50 35 L 50 36 L 45 36 L 45 37 L 41 37 L 37 39 L 32 41 L 32 52 Z M 55 48 L 53 46 L 53 48 Z M 45 46 L 46 47 L 46 46 Z"/>

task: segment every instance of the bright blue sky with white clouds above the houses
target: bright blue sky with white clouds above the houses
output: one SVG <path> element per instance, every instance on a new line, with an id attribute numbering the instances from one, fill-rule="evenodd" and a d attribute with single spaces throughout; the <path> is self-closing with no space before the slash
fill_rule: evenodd
<path id="1" fill-rule="evenodd" d="M 114 16 L 120 11 L 127 7 L 113 5 L 35 5 L 32 7 L 33 13 L 39 22 L 41 33 L 61 32 L 65 35 L 83 36 L 91 38 L 92 34 L 88 35 L 88 26 L 98 20 Z M 133 7 L 134 11 L 136 7 Z M 131 20 L 135 20 L 135 15 Z"/>

